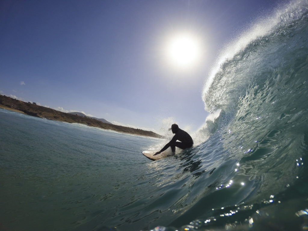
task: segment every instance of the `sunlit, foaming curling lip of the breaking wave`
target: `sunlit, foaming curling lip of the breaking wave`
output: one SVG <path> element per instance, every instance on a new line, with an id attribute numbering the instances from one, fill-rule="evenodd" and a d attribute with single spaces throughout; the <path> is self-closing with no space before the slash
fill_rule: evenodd
<path id="1" fill-rule="evenodd" d="M 293 2 L 230 43 L 205 83 L 205 110 L 234 112 L 239 96 L 251 85 L 264 83 L 276 68 L 286 65 L 283 57 L 292 57 L 292 51 L 306 47 L 307 32 L 299 30 L 306 28 L 307 8 L 308 1 Z"/>

